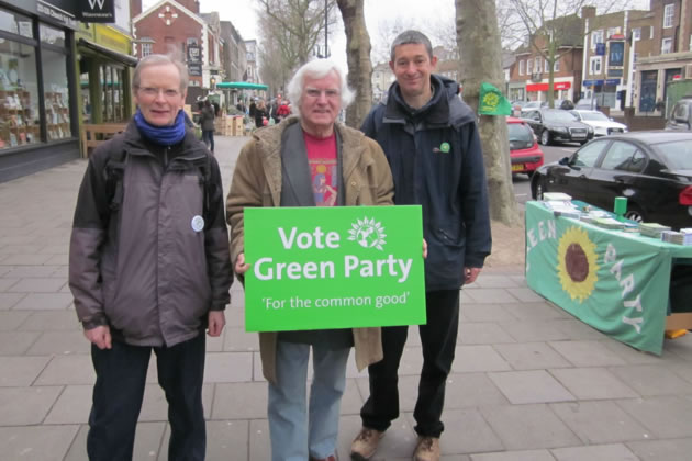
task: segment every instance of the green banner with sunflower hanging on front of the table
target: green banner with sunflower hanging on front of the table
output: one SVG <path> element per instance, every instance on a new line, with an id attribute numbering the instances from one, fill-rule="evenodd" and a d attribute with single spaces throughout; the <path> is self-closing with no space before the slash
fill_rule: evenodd
<path id="1" fill-rule="evenodd" d="M 527 203 L 528 285 L 609 336 L 658 355 L 670 265 L 667 244 L 555 217 L 540 203 Z"/>

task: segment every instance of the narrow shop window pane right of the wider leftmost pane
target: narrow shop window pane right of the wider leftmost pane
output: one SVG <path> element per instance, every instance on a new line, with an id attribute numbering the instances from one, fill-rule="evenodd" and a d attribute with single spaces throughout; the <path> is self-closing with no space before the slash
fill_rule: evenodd
<path id="1" fill-rule="evenodd" d="M 67 56 L 51 49 L 42 49 L 41 58 L 47 139 L 56 140 L 71 137 Z"/>

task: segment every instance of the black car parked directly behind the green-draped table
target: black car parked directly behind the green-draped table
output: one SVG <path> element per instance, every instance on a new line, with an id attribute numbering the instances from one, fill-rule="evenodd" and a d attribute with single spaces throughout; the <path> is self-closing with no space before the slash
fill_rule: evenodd
<path id="1" fill-rule="evenodd" d="M 604 210 L 627 198 L 626 217 L 692 227 L 692 133 L 633 132 L 594 139 L 538 168 L 532 196 L 565 192 Z"/>

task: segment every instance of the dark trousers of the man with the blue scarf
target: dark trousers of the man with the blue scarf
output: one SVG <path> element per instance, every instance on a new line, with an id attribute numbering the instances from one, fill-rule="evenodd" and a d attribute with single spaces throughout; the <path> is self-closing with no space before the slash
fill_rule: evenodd
<path id="1" fill-rule="evenodd" d="M 204 335 L 200 334 L 170 348 L 130 346 L 121 341 L 113 341 L 112 349 L 91 346 L 97 381 L 87 436 L 90 461 L 132 460 L 152 349 L 156 353 L 158 383 L 168 401 L 168 459 L 204 459 Z"/>

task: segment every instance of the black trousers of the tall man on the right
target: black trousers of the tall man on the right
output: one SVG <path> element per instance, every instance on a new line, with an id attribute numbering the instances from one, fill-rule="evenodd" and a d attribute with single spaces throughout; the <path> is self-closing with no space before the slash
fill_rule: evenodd
<path id="1" fill-rule="evenodd" d="M 415 431 L 424 437 L 439 437 L 445 429 L 440 417 L 445 406 L 445 383 L 451 370 L 459 328 L 459 290 L 431 291 L 425 294 L 426 325 L 421 325 L 423 370 L 413 417 Z M 387 430 L 399 417 L 399 362 L 406 344 L 409 327 L 382 328 L 384 359 L 368 367 L 370 396 L 360 409 L 365 427 Z"/>

